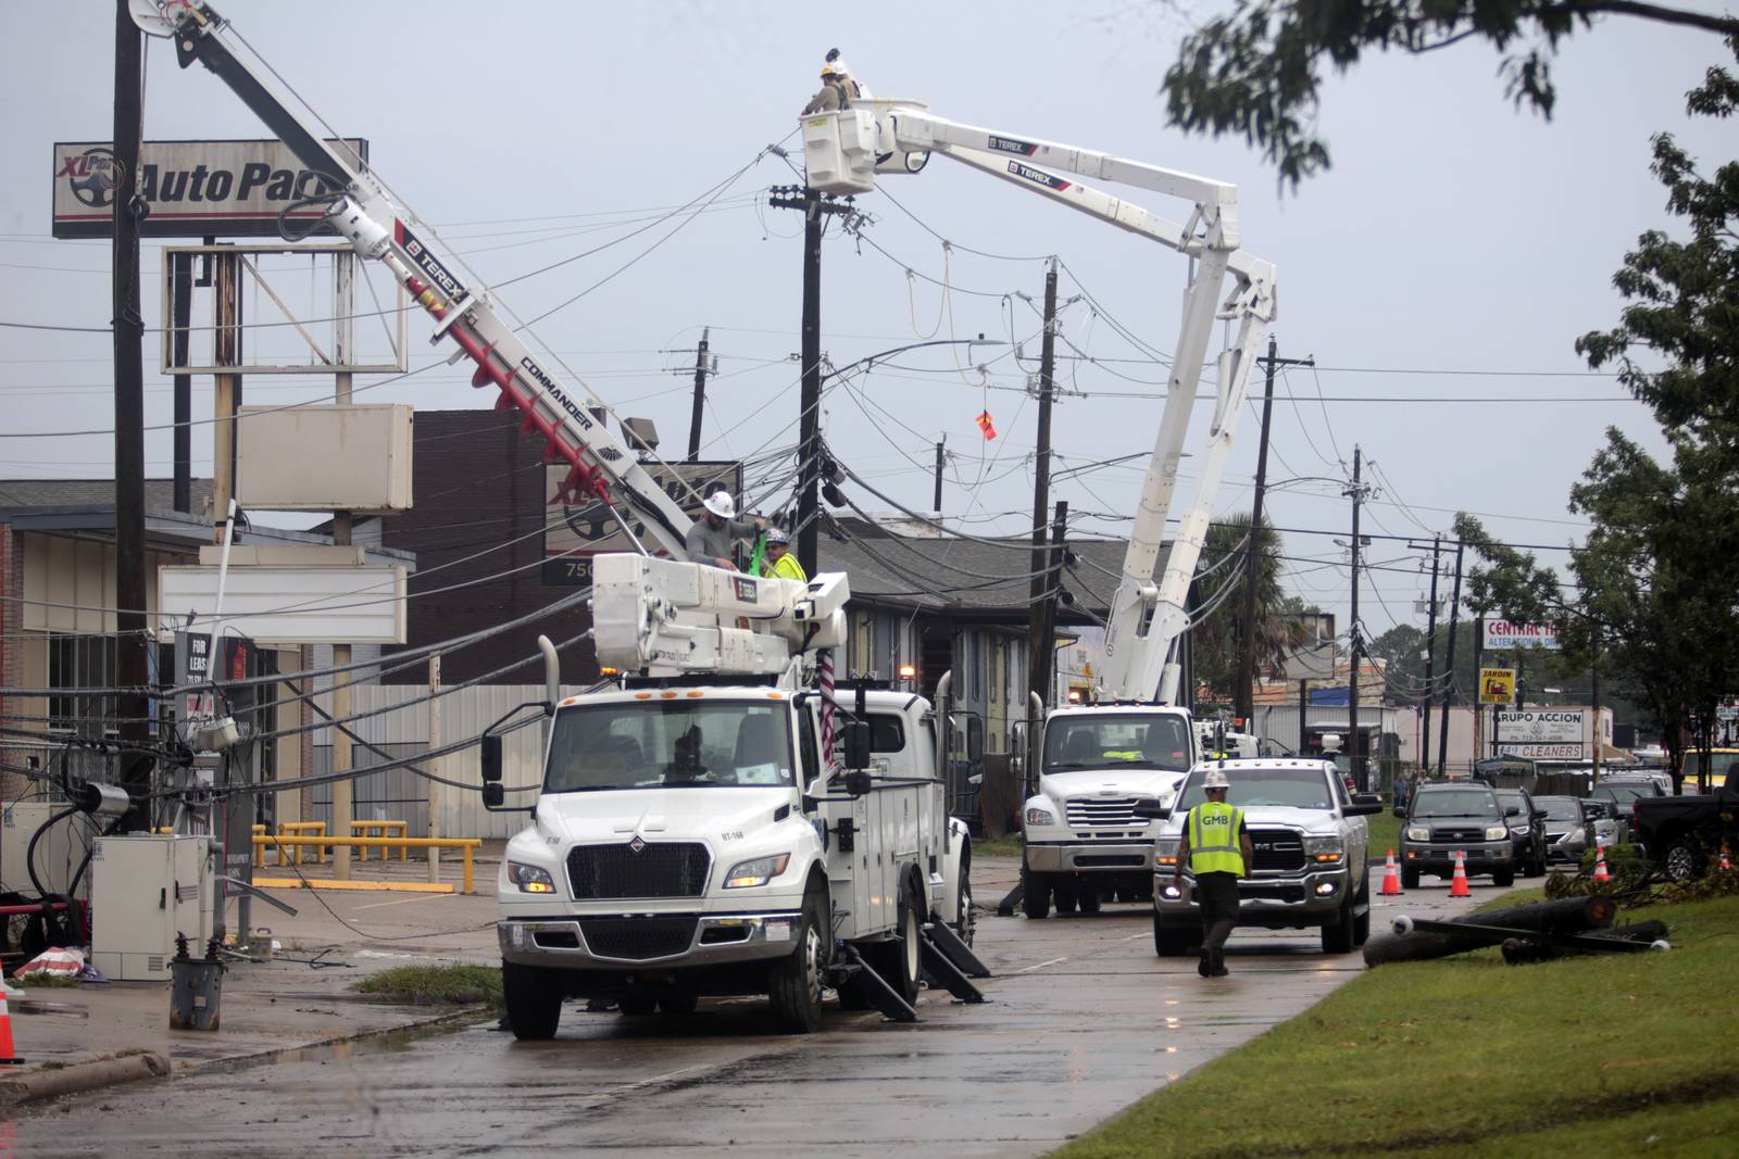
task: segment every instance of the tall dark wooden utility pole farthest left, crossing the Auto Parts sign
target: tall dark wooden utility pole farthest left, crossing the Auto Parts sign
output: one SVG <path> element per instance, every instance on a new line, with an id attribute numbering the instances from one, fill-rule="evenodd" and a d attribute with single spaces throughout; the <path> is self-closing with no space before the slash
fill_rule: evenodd
<path id="1" fill-rule="evenodd" d="M 127 0 L 115 0 L 115 214 L 113 214 L 113 301 L 115 328 L 115 683 L 127 692 L 115 697 L 120 737 L 139 747 L 150 744 L 146 697 L 137 690 L 150 679 L 144 638 L 144 318 L 139 315 L 139 219 L 144 200 L 137 195 L 139 137 L 144 111 L 143 33 L 132 23 Z M 120 765 L 122 787 L 139 801 L 151 791 L 151 758 L 127 752 Z M 123 818 L 129 831 L 144 829 L 150 813 L 132 805 Z"/>

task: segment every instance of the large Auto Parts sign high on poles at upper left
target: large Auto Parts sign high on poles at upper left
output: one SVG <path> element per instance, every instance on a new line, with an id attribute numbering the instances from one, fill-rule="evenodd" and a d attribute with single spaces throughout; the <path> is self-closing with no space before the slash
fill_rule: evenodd
<path id="1" fill-rule="evenodd" d="M 362 137 L 327 144 L 339 156 L 369 160 Z M 110 236 L 115 193 L 130 188 L 108 141 L 56 142 L 54 236 Z M 139 149 L 139 193 L 150 207 L 139 233 L 148 238 L 278 236 L 278 215 L 290 203 L 334 191 L 282 141 L 146 141 Z M 322 214 L 304 205 L 289 215 L 306 224 Z"/>

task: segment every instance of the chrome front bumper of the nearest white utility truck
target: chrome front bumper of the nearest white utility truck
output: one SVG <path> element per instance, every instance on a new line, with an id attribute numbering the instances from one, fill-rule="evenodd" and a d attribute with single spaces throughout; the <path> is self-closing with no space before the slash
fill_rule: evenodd
<path id="1" fill-rule="evenodd" d="M 676 916 L 657 914 L 657 917 Z M 496 938 L 501 944 L 503 961 L 518 966 L 565 966 L 570 970 L 722 966 L 784 957 L 796 945 L 795 938 L 802 917 L 796 911 L 701 914 L 689 945 L 675 954 L 657 957 L 610 957 L 593 952 L 586 945 L 584 924 L 577 919 L 503 917 L 496 923 Z"/>

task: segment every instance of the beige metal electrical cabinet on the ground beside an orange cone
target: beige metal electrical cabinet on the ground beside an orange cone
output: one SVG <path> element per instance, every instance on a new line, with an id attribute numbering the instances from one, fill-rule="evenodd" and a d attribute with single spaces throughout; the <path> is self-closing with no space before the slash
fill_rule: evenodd
<path id="1" fill-rule="evenodd" d="M 122 982 L 169 982 L 176 935 L 212 937 L 212 839 L 103 838 L 90 857 L 90 964 Z"/>

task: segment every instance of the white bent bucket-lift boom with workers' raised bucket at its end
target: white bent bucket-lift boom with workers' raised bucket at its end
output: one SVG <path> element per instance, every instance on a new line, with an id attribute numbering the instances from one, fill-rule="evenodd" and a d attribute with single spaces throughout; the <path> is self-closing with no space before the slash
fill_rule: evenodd
<path id="1" fill-rule="evenodd" d="M 1231 455 L 1256 351 L 1276 313 L 1273 264 L 1238 248 L 1236 186 L 1096 149 L 962 125 L 911 101 L 857 101 L 849 109 L 805 116 L 802 129 L 809 184 L 828 193 L 868 193 L 875 189 L 876 174 L 915 174 L 930 155 L 948 156 L 1195 259 L 1165 387 L 1165 410 L 1106 619 L 1106 660 L 1099 672 L 1106 697 L 1176 700 L 1181 669 L 1170 657 L 1177 638 L 1189 627 L 1184 610 L 1189 582 Z M 899 163 L 889 165 L 890 158 L 899 158 Z M 1181 198 L 1191 212 L 1188 221 L 1176 222 L 1064 174 Z M 1228 275 L 1233 287 L 1223 297 Z M 1217 358 L 1216 405 L 1202 471 L 1179 520 L 1165 573 L 1155 584 L 1165 518 L 1216 320 L 1236 323 L 1236 334 Z"/>

